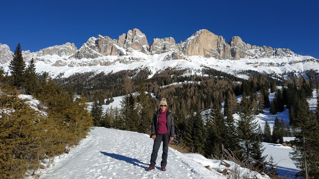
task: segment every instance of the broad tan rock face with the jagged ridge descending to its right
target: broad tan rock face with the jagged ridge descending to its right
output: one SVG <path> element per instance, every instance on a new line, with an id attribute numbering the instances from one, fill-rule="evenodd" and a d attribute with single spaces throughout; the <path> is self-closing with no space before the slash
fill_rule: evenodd
<path id="1" fill-rule="evenodd" d="M 199 55 L 217 59 L 239 60 L 240 58 L 260 59 L 298 56 L 289 49 L 258 47 L 246 44 L 240 37 L 232 37 L 227 43 L 222 36 L 215 35 L 206 29 L 199 30 L 179 44 L 179 49 L 187 56 Z"/>

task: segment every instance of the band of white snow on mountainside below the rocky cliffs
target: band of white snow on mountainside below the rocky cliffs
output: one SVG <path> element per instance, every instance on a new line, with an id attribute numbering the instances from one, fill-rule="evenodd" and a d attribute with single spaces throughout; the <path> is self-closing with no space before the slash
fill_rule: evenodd
<path id="1" fill-rule="evenodd" d="M 82 48 L 82 47 L 81 47 Z M 123 49 L 121 49 L 123 50 Z M 95 52 L 94 50 L 92 50 Z M 96 52 L 97 53 L 97 52 Z M 166 60 L 166 56 L 171 55 L 174 52 L 167 52 L 163 54 L 144 54 L 142 52 L 133 51 L 128 55 L 108 55 L 101 56 L 95 59 L 75 59 L 68 55 L 41 55 L 37 53 L 30 53 L 27 55 L 26 62 L 31 58 L 35 59 L 36 72 L 49 72 L 50 75 L 56 77 L 60 73 L 63 73 L 63 77 L 70 76 L 74 73 L 84 73 L 94 71 L 100 72 L 117 72 L 127 69 L 141 69 L 149 68 L 151 70 L 152 77 L 157 71 L 165 70 L 167 68 L 191 68 L 194 70 L 201 70 L 205 67 L 214 68 L 226 73 L 233 74 L 237 77 L 248 79 L 249 76 L 238 74 L 241 70 L 255 70 L 261 73 L 276 73 L 283 74 L 285 72 L 296 71 L 295 74 L 299 75 L 299 72 L 304 70 L 314 69 L 319 70 L 319 64 L 315 62 L 311 56 L 292 56 L 284 58 L 262 58 L 262 59 L 246 59 L 240 60 L 219 60 L 213 57 L 206 58 L 203 56 L 185 56 L 186 60 Z M 70 58 L 69 58 L 70 57 Z M 309 60 L 310 59 L 310 60 Z M 62 61 L 61 67 L 54 65 L 56 61 Z M 4 69 L 9 71 L 9 61 L 2 62 Z M 53 65 L 53 66 L 52 66 Z M 201 75 L 197 73 L 197 75 Z"/>

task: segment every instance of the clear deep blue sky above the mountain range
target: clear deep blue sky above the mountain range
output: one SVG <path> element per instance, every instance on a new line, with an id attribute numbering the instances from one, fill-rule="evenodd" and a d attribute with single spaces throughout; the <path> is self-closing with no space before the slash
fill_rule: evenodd
<path id="1" fill-rule="evenodd" d="M 319 59 L 319 1 L 0 1 L 0 43 L 31 52 L 133 28 L 184 41 L 200 29 L 245 43 L 289 48 Z"/>

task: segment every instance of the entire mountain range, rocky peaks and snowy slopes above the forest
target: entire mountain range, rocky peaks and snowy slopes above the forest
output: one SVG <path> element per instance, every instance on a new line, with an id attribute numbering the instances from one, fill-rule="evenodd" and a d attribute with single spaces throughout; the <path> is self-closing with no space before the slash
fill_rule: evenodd
<path id="1" fill-rule="evenodd" d="M 0 44 L 0 65 L 6 70 L 12 54 L 7 45 Z M 300 75 L 308 69 L 319 69 L 319 60 L 311 56 L 295 54 L 285 48 L 246 44 L 238 36 L 226 42 L 222 36 L 206 29 L 179 43 L 168 37 L 153 39 L 148 44 L 145 34 L 133 29 L 118 39 L 102 35 L 91 37 L 79 49 L 68 42 L 38 52 L 23 51 L 22 54 L 26 62 L 31 58 L 35 60 L 37 72 L 47 71 L 53 76 L 145 67 L 152 75 L 166 68 L 200 69 L 203 66 L 231 74 L 249 69 L 283 76 L 289 72 Z"/>

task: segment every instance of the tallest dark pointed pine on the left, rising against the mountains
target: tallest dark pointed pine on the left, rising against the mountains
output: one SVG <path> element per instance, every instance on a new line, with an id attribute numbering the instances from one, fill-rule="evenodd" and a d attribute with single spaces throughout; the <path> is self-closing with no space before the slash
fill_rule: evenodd
<path id="1" fill-rule="evenodd" d="M 13 76 L 13 85 L 17 88 L 24 86 L 26 63 L 22 57 L 22 51 L 20 43 L 14 50 L 13 59 L 10 61 L 9 69 Z"/>

